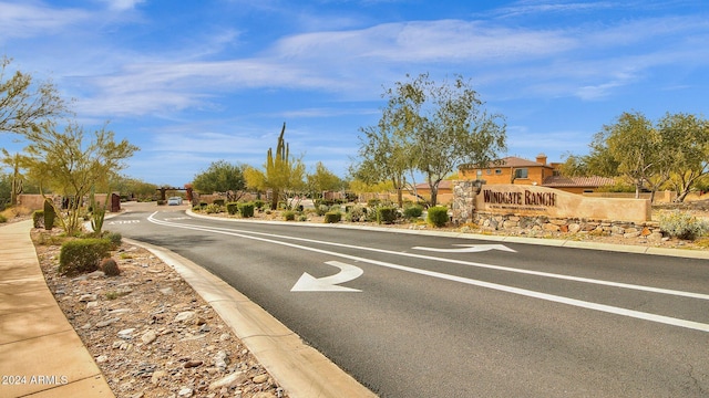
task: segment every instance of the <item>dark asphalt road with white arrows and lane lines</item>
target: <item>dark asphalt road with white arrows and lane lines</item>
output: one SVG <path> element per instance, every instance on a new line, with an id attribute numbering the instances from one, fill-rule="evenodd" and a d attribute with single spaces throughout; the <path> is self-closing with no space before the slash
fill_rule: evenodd
<path id="1" fill-rule="evenodd" d="M 709 396 L 706 260 L 169 210 L 106 229 L 208 269 L 382 397 Z"/>

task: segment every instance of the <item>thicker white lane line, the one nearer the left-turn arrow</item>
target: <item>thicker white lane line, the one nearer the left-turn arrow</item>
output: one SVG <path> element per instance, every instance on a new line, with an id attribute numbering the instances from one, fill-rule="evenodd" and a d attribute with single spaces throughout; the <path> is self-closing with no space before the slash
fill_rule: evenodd
<path id="1" fill-rule="evenodd" d="M 555 302 L 555 303 L 573 305 L 573 306 L 576 306 L 576 307 L 594 310 L 594 311 L 599 311 L 599 312 L 605 312 L 605 313 L 616 314 L 616 315 L 621 315 L 621 316 L 628 316 L 628 317 L 633 317 L 633 318 L 637 318 L 637 320 L 650 321 L 650 322 L 655 322 L 655 323 L 660 323 L 660 324 L 666 324 L 666 325 L 671 325 L 671 326 L 678 326 L 678 327 L 685 327 L 685 328 L 690 328 L 690 329 L 695 329 L 695 331 L 709 332 L 709 324 L 703 324 L 703 323 L 700 323 L 700 322 L 680 320 L 680 318 L 676 318 L 676 317 L 656 315 L 656 314 L 645 313 L 645 312 L 640 312 L 640 311 L 634 311 L 634 310 L 616 307 L 616 306 L 612 306 L 612 305 L 592 303 L 592 302 L 586 302 L 586 301 L 583 301 L 583 300 L 576 300 L 576 298 L 569 298 L 569 297 L 558 296 L 558 295 L 554 295 L 554 294 L 541 293 L 541 292 L 535 292 L 535 291 L 531 291 L 531 290 L 526 290 L 526 289 L 506 286 L 506 285 L 501 285 L 501 284 L 497 284 L 497 283 L 484 282 L 484 281 L 473 280 L 473 279 L 463 277 L 463 276 L 449 275 L 449 274 L 444 274 L 442 272 L 420 270 L 420 269 L 410 268 L 410 266 L 405 266 L 405 265 L 393 264 L 393 263 L 389 263 L 389 262 L 384 262 L 384 261 L 378 261 L 378 260 L 360 258 L 360 256 L 357 256 L 357 255 L 331 252 L 331 251 L 327 251 L 327 250 L 309 248 L 309 247 L 304 247 L 304 245 L 299 245 L 299 244 L 295 244 L 295 243 L 281 242 L 281 241 L 276 241 L 276 240 L 266 239 L 266 238 L 259 238 L 259 237 L 254 237 L 254 235 L 247 235 L 247 234 L 237 233 L 237 232 L 227 231 L 227 230 L 222 230 L 222 229 L 212 229 L 209 227 L 194 227 L 194 226 L 187 226 L 187 224 L 178 224 L 178 223 L 173 223 L 173 222 L 165 222 L 165 221 L 153 219 L 154 214 L 155 213 L 153 213 L 153 214 L 151 214 L 148 217 L 148 221 L 151 221 L 153 223 L 156 223 L 156 224 L 161 224 L 161 226 L 191 229 L 191 230 L 204 231 L 204 232 L 222 233 L 222 234 L 228 234 L 228 235 L 234 235 L 234 237 L 239 237 L 239 238 L 245 238 L 245 239 L 258 240 L 258 241 L 263 241 L 263 242 L 286 245 L 286 247 L 301 249 L 301 250 L 311 251 L 311 252 L 316 252 L 316 253 L 339 256 L 339 258 L 343 258 L 343 259 L 348 259 L 348 260 L 352 260 L 352 261 L 366 262 L 366 263 L 369 263 L 369 264 L 379 265 L 379 266 L 383 266 L 383 268 L 388 268 L 388 269 L 392 269 L 392 270 L 399 270 L 399 271 L 410 272 L 410 273 L 414 273 L 414 274 L 419 274 L 419 275 L 425 275 L 425 276 L 431 276 L 431 277 L 438 277 L 438 279 L 441 279 L 441 280 L 464 283 L 464 284 L 469 284 L 469 285 L 473 285 L 473 286 L 480 286 L 480 287 L 492 289 L 492 290 L 496 290 L 496 291 L 501 291 L 501 292 L 513 293 L 513 294 L 517 294 L 517 295 L 522 295 L 522 296 L 526 296 L 526 297 L 541 298 L 541 300 L 546 300 L 546 301 L 551 301 L 551 302 Z M 319 242 L 319 243 L 321 243 L 321 242 Z"/>

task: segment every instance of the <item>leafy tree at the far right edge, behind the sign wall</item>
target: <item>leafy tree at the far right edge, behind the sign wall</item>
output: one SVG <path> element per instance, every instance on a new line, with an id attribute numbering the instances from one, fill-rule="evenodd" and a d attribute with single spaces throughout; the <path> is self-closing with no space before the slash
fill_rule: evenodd
<path id="1" fill-rule="evenodd" d="M 709 175 L 709 122 L 695 115 L 667 113 L 657 129 L 667 142 L 662 157 L 670 163 L 670 184 L 681 202 Z"/>

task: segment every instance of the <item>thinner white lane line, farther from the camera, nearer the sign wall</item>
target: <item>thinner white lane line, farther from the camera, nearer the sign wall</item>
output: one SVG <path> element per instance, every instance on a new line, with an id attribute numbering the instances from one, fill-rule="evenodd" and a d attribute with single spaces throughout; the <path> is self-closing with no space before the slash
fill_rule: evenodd
<path id="1" fill-rule="evenodd" d="M 161 220 L 156 220 L 156 221 L 161 221 Z M 269 237 L 269 238 L 277 238 L 277 239 L 288 239 L 288 240 L 291 240 L 291 241 L 317 243 L 317 244 L 331 245 L 331 247 L 337 247 L 337 248 L 366 250 L 366 251 L 376 252 L 376 253 L 402 255 L 402 256 L 408 256 L 408 258 L 413 258 L 413 259 L 421 259 L 421 260 L 445 262 L 445 263 L 451 263 L 451 264 L 475 266 L 475 268 L 486 269 L 486 270 L 512 272 L 512 273 L 542 276 L 542 277 L 552 277 L 552 279 L 564 280 L 564 281 L 582 282 L 582 283 L 589 283 L 589 284 L 596 284 L 596 285 L 603 285 L 603 286 L 620 287 L 620 289 L 636 290 L 636 291 L 643 291 L 643 292 L 649 292 L 649 293 L 668 294 L 668 295 L 675 295 L 675 296 L 680 296 L 680 297 L 689 297 L 689 298 L 698 298 L 698 300 L 707 300 L 707 301 L 709 301 L 709 294 L 702 294 L 702 293 L 685 292 L 685 291 L 678 291 L 678 290 L 671 290 L 671 289 L 662 289 L 662 287 L 644 286 L 644 285 L 636 285 L 636 284 L 630 284 L 630 283 L 621 283 L 621 282 L 613 282 L 613 281 L 604 281 L 604 280 L 597 280 L 597 279 L 590 279 L 590 277 L 563 275 L 563 274 L 556 274 L 556 273 L 551 273 L 551 272 L 522 270 L 522 269 L 515 269 L 515 268 L 510 268 L 510 266 L 492 265 L 492 264 L 484 264 L 484 263 L 479 263 L 479 262 L 455 260 L 455 259 L 436 258 L 436 256 L 430 256 L 430 255 L 425 255 L 425 254 L 405 253 L 405 252 L 398 252 L 398 251 L 391 251 L 391 250 L 386 250 L 386 249 L 366 248 L 366 247 L 358 247 L 358 245 L 352 245 L 352 244 L 347 244 L 347 243 L 323 242 L 323 241 L 318 241 L 318 240 L 314 240 L 314 239 L 279 235 L 279 234 L 274 234 L 274 233 L 255 232 L 255 231 L 228 229 L 228 228 L 220 228 L 220 227 L 205 227 L 205 228 L 209 228 L 210 230 L 215 230 L 215 231 L 240 232 L 240 233 L 248 233 L 248 234 L 251 234 L 251 235 L 261 235 L 261 237 Z"/>

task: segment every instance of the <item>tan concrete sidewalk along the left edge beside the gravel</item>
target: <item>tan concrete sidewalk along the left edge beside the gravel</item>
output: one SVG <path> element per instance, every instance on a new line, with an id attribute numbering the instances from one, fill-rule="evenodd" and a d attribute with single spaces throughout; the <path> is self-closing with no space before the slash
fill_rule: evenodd
<path id="1" fill-rule="evenodd" d="M 114 397 L 47 286 L 31 228 L 0 227 L 0 397 Z"/>

